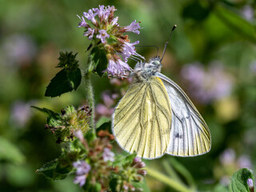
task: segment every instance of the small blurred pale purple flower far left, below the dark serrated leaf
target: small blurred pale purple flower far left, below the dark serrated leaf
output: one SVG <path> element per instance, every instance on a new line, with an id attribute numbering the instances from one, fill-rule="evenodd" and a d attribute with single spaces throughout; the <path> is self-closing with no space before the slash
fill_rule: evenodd
<path id="1" fill-rule="evenodd" d="M 31 117 L 30 105 L 31 103 L 21 101 L 14 102 L 14 105 L 11 109 L 11 122 L 14 122 L 14 124 L 16 124 L 19 127 L 26 126 L 26 122 L 28 122 Z"/>

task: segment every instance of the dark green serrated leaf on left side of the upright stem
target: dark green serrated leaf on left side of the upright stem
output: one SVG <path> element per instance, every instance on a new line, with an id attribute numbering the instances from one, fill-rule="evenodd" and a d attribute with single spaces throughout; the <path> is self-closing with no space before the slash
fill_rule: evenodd
<path id="1" fill-rule="evenodd" d="M 46 97 L 57 97 L 66 92 L 77 90 L 82 79 L 81 70 L 63 69 L 55 75 L 46 88 Z"/>

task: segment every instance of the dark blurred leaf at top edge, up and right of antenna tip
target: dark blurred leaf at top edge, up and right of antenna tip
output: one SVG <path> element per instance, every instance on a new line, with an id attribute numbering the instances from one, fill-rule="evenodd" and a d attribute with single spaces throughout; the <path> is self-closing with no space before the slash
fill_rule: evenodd
<path id="1" fill-rule="evenodd" d="M 185 6 L 182 16 L 183 18 L 192 18 L 196 22 L 201 22 L 210 14 L 210 9 L 208 7 L 202 6 L 198 1 L 191 2 L 189 5 Z"/>

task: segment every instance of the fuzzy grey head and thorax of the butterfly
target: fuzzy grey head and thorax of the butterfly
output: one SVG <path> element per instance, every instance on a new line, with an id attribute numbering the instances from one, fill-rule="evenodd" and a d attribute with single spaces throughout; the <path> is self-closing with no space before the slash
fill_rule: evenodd
<path id="1" fill-rule="evenodd" d="M 162 64 L 159 57 L 151 58 L 150 62 L 138 62 L 134 67 L 131 77 L 134 79 L 134 82 L 145 82 L 157 72 L 160 72 L 161 67 Z"/>

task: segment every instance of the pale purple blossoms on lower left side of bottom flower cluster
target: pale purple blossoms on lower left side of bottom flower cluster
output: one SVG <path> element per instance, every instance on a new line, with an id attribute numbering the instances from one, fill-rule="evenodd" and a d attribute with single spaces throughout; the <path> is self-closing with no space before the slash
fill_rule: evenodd
<path id="1" fill-rule="evenodd" d="M 79 186 L 85 185 L 86 176 L 90 172 L 90 165 L 85 161 L 78 161 L 73 162 L 73 166 L 77 168 L 74 183 L 79 184 Z"/>

